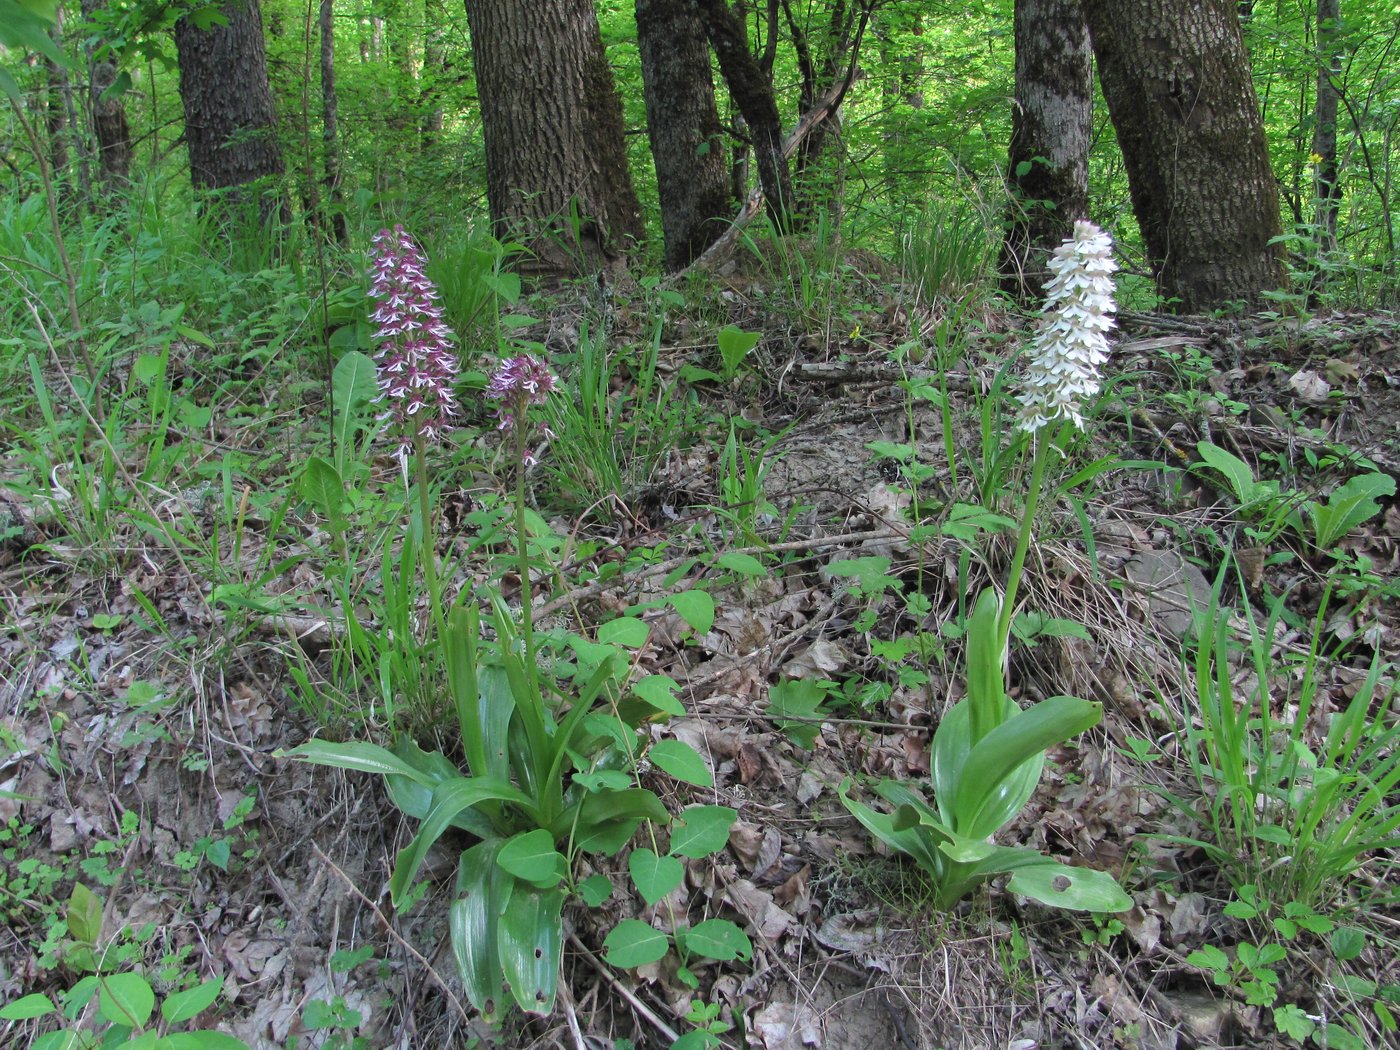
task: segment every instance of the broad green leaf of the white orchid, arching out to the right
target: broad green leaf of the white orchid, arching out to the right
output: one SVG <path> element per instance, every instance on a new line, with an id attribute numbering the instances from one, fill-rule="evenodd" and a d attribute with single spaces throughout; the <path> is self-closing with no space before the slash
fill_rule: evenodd
<path id="1" fill-rule="evenodd" d="M 1100 704 L 1074 696 L 1053 696 L 1008 718 L 973 746 L 958 776 L 951 822 L 969 839 L 986 839 L 1007 823 L 1022 805 L 1028 762 L 1043 762 L 1047 748 L 1078 736 L 1103 717 Z M 1037 771 L 1039 778 L 1039 771 Z M 1032 785 L 1032 791 L 1035 785 Z M 1016 809 L 1008 812 L 1012 804 Z"/>

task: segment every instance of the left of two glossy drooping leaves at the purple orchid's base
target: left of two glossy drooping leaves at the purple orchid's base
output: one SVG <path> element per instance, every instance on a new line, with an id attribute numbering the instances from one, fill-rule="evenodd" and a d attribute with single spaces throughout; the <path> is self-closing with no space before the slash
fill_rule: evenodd
<path id="1" fill-rule="evenodd" d="M 466 988 L 466 998 L 487 1023 L 500 1018 L 505 974 L 497 925 L 515 888 L 515 879 L 496 862 L 501 840 L 477 843 L 456 864 L 456 899 L 448 909 L 452 955 Z"/>

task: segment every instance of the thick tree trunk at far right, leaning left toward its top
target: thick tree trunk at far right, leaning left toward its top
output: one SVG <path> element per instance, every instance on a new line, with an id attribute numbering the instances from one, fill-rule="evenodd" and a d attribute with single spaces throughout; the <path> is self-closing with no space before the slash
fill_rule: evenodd
<path id="1" fill-rule="evenodd" d="M 1233 0 L 1082 0 L 1133 210 L 1177 309 L 1284 280 L 1278 189 Z"/>

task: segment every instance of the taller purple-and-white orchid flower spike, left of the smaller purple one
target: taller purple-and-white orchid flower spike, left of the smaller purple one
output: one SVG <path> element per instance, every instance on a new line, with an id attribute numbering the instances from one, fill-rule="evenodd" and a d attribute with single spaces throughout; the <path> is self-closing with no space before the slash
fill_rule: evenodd
<path id="1" fill-rule="evenodd" d="M 459 364 L 421 249 L 402 225 L 375 234 L 374 249 L 370 294 L 379 305 L 370 319 L 382 340 L 375 354 L 379 400 L 389 402 L 381 419 L 400 424 L 398 456 L 406 463 L 416 441 L 435 440 L 451 427 Z"/>

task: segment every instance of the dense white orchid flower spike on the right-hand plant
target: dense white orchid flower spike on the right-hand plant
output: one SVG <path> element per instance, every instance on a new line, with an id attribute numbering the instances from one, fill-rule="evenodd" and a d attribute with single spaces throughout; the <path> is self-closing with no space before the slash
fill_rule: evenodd
<path id="1" fill-rule="evenodd" d="M 1056 248 L 1046 305 L 1021 395 L 1018 426 L 1028 434 L 1060 420 L 1084 426 L 1082 405 L 1099 392 L 1113 328 L 1113 241 L 1093 223 L 1078 221 Z"/>

